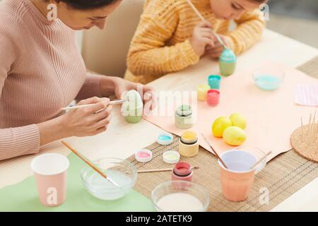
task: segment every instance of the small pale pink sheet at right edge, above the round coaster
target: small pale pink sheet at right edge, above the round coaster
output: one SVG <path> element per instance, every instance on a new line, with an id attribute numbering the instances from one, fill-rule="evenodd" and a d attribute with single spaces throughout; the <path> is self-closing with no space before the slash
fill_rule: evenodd
<path id="1" fill-rule="evenodd" d="M 295 103 L 305 106 L 318 106 L 318 84 L 296 85 Z"/>

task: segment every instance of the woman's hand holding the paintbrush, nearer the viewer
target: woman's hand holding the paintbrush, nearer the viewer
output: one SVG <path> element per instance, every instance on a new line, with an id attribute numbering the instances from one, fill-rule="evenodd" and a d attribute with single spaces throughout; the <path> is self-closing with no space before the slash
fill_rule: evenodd
<path id="1" fill-rule="evenodd" d="M 106 131 L 110 124 L 112 105 L 110 99 L 91 97 L 81 100 L 78 105 L 95 104 L 73 109 L 62 115 L 62 121 L 68 136 L 93 136 Z"/>

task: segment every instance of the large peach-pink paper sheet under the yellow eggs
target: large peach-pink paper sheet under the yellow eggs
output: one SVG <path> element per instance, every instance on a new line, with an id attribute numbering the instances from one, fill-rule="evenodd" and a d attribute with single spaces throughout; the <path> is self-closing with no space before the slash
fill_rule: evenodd
<path id="1" fill-rule="evenodd" d="M 285 72 L 285 80 L 281 88 L 274 91 L 257 88 L 252 80 L 252 71 L 259 66 L 254 66 L 254 69 L 251 67 L 246 71 L 237 71 L 232 76 L 222 78 L 220 104 L 217 107 L 209 107 L 206 102 L 198 102 L 196 124 L 189 130 L 196 131 L 200 145 L 206 150 L 211 151 L 201 133 L 204 133 L 218 153 L 234 148 L 227 145 L 222 138 L 214 137 L 211 133 L 211 125 L 216 118 L 230 116 L 235 112 L 247 118 L 245 149 L 252 150 L 256 147 L 266 152 L 271 150 L 272 154 L 267 158 L 269 161 L 292 148 L 290 135 L 300 126 L 300 117 L 305 119 L 317 109 L 295 104 L 295 85 L 313 84 L 318 80 L 282 64 L 271 62 L 263 66 L 276 67 Z M 175 118 L 172 115 L 148 116 L 146 119 L 178 136 L 185 131 L 175 126 Z"/>

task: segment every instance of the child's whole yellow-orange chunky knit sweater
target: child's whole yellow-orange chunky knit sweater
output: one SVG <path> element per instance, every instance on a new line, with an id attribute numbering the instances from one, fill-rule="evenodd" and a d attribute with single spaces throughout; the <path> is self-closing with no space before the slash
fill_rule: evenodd
<path id="1" fill-rule="evenodd" d="M 216 18 L 209 0 L 192 2 L 213 25 L 215 32 L 229 38 L 235 54 L 251 47 L 264 30 L 265 23 L 259 18 L 258 9 L 246 12 L 239 20 L 235 20 L 237 27 L 230 31 L 230 21 Z M 196 64 L 199 56 L 189 40 L 200 21 L 186 0 L 146 0 L 131 41 L 125 78 L 146 84 L 167 73 Z"/>

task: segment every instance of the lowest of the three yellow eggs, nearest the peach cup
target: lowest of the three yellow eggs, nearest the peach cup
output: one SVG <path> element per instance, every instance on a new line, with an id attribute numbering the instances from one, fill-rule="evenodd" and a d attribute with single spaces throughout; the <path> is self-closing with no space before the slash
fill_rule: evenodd
<path id="1" fill-rule="evenodd" d="M 246 141 L 246 133 L 240 127 L 230 126 L 223 132 L 223 139 L 228 145 L 242 145 Z"/>

